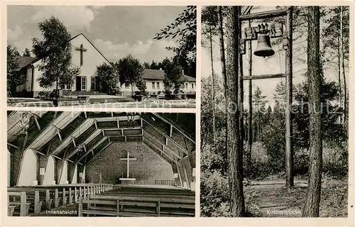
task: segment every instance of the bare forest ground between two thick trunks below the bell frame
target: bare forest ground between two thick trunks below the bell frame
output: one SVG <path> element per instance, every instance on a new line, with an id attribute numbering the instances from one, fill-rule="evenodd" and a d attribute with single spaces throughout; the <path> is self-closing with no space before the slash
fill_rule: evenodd
<path id="1" fill-rule="evenodd" d="M 262 217 L 300 217 L 300 194 L 307 189 L 307 180 L 295 180 L 293 189 L 285 188 L 285 180 L 251 181 L 244 187 L 246 204 Z M 304 196 L 302 196 L 304 197 Z"/>

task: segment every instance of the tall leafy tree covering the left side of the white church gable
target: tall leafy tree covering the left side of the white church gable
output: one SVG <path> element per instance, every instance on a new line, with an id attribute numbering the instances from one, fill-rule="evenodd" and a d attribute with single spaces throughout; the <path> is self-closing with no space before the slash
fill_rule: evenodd
<path id="1" fill-rule="evenodd" d="M 38 23 L 38 28 L 43 35 L 43 40 L 33 38 L 33 54 L 41 58 L 38 70 L 42 71 L 38 79 L 40 87 L 50 88 L 55 84 L 56 97 L 58 87 L 72 83 L 80 69 L 72 67 L 72 49 L 70 45 L 70 33 L 58 20 L 50 17 Z"/>

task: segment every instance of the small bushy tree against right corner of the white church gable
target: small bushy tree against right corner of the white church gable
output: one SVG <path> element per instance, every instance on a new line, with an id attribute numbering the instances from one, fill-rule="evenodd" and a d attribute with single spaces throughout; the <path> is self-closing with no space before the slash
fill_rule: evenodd
<path id="1" fill-rule="evenodd" d="M 116 93 L 117 84 L 119 83 L 119 74 L 116 67 L 107 63 L 97 66 L 97 79 L 102 86 L 102 92 L 107 94 Z"/>

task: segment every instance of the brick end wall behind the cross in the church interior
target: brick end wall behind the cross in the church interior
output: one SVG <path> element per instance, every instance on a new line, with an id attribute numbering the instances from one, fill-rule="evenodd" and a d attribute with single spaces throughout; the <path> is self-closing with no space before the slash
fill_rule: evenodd
<path id="1" fill-rule="evenodd" d="M 137 143 L 113 143 L 102 154 L 102 160 L 96 157 L 86 166 L 86 174 L 89 182 L 98 183 L 99 173 L 102 174 L 102 183 L 118 184 L 119 178 L 126 177 L 127 157 L 136 157 L 129 164 L 130 177 L 136 178 L 136 184 L 154 184 L 155 179 L 173 180 L 173 169 L 163 158 L 156 154 L 146 145 L 141 145 L 141 153 L 138 153 Z"/>

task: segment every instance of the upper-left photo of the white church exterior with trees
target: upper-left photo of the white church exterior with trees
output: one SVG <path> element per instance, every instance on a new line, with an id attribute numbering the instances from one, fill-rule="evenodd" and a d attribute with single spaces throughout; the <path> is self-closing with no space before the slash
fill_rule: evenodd
<path id="1" fill-rule="evenodd" d="M 7 6 L 8 106 L 196 107 L 196 6 Z"/>

